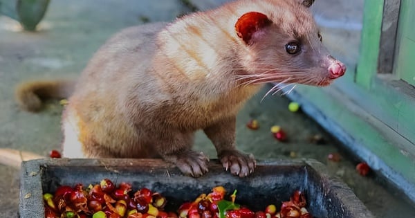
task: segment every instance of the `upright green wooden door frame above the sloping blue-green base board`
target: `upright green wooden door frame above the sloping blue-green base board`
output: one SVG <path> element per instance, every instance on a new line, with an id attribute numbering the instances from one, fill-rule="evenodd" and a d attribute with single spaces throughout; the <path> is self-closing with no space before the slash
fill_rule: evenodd
<path id="1" fill-rule="evenodd" d="M 356 84 L 363 90 L 354 98 L 380 122 L 403 136 L 407 140 L 403 144 L 412 147 L 415 143 L 415 89 L 412 86 L 415 84 L 415 1 L 400 1 L 396 48 L 391 51 L 380 50 L 382 30 L 389 24 L 384 22 L 382 26 L 384 9 L 383 1 L 365 1 L 365 27 L 356 72 Z M 378 57 L 382 52 L 394 56 L 392 72 L 379 72 Z"/>

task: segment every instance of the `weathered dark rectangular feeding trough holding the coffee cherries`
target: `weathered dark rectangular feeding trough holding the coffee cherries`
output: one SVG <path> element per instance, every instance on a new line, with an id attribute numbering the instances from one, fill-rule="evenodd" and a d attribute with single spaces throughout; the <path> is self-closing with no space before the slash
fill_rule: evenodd
<path id="1" fill-rule="evenodd" d="M 193 201 L 216 185 L 228 192 L 238 190 L 237 202 L 253 210 L 277 208 L 295 190 L 306 193 L 307 209 L 313 217 L 374 217 L 355 194 L 339 179 L 332 178 L 324 165 L 313 160 L 261 161 L 252 176 L 240 179 L 225 172 L 218 161 L 211 161 L 210 172 L 201 178 L 183 176 L 172 164 L 156 159 L 41 159 L 22 163 L 20 217 L 43 218 L 44 192 L 55 192 L 59 185 L 131 183 L 133 190 L 149 188 L 167 198 L 167 210 Z"/>

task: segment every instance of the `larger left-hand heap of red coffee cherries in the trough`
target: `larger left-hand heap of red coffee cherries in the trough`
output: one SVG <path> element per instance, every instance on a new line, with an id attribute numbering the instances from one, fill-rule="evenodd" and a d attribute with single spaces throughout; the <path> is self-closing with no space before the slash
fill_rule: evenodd
<path id="1" fill-rule="evenodd" d="M 164 211 L 166 199 L 158 192 L 142 188 L 133 192 L 131 184 L 118 187 L 109 179 L 84 188 L 62 185 L 54 194 L 43 195 L 46 218 L 177 218 Z"/>

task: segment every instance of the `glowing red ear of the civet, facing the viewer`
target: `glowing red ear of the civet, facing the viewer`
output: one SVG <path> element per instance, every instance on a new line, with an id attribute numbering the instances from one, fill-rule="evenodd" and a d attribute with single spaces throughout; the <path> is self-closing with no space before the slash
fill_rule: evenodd
<path id="1" fill-rule="evenodd" d="M 248 44 L 254 33 L 269 24 L 271 21 L 266 15 L 260 12 L 248 12 L 239 17 L 237 24 L 235 24 L 235 30 L 237 30 L 238 36 Z"/>

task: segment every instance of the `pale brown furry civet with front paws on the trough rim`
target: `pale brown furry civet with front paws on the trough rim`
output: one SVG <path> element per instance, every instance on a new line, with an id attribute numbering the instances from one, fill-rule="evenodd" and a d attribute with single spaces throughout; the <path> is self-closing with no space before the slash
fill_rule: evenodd
<path id="1" fill-rule="evenodd" d="M 64 156 L 161 157 L 201 176 L 208 158 L 192 143 L 203 129 L 223 167 L 251 174 L 255 158 L 235 145 L 243 103 L 266 82 L 326 86 L 345 71 L 319 41 L 311 3 L 240 0 L 172 24 L 122 30 L 95 53 L 68 100 Z M 266 15 L 264 25 L 250 12 Z M 286 52 L 292 41 L 301 44 L 295 55 Z M 30 109 L 25 102 L 35 97 L 27 92 L 17 93 Z"/>

